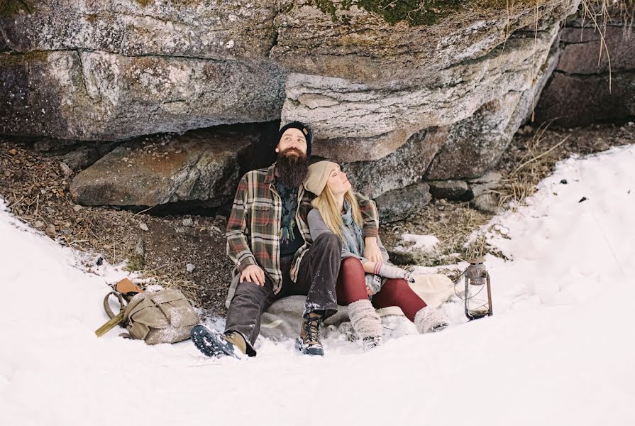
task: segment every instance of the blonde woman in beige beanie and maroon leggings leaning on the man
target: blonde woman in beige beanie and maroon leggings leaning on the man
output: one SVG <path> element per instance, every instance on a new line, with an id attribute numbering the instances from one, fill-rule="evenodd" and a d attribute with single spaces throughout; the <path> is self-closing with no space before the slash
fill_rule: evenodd
<path id="1" fill-rule="evenodd" d="M 375 308 L 399 306 L 420 333 L 436 332 L 448 326 L 445 315 L 427 307 L 408 284 L 406 271 L 388 262 L 388 253 L 377 237 L 382 261 L 363 257 L 365 241 L 359 203 L 365 199 L 352 190 L 346 173 L 330 161 L 309 166 L 304 187 L 317 197 L 307 217 L 311 239 L 325 232 L 336 234 L 342 243 L 342 263 L 338 273 L 338 305 L 348 305 L 353 329 L 365 350 L 382 342 L 383 328 Z"/>

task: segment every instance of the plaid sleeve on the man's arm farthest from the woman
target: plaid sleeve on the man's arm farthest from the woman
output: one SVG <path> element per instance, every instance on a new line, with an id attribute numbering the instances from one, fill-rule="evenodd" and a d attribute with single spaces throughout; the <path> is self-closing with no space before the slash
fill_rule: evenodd
<path id="1" fill-rule="evenodd" d="M 227 255 L 238 265 L 238 271 L 245 271 L 250 265 L 258 266 L 251 249 L 249 248 L 249 240 L 247 238 L 247 195 L 248 195 L 248 178 L 244 175 L 241 182 L 238 183 L 236 197 L 233 199 L 231 214 L 227 221 L 227 230 L 225 236 L 227 238 Z"/>

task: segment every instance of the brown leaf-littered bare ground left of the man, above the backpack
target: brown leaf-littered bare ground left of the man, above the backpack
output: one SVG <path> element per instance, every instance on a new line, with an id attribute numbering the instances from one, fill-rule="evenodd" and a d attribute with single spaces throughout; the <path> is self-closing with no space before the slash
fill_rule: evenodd
<path id="1" fill-rule="evenodd" d="M 224 238 L 213 230 L 224 228 L 220 219 L 194 217 L 196 226 L 184 227 L 182 217 L 80 207 L 70 196 L 72 177 L 55 156 L 0 138 L 0 197 L 16 217 L 87 253 L 87 271 L 103 261 L 126 261 L 126 269 L 145 285 L 177 288 L 195 305 L 224 312 L 221 299 L 231 262 L 224 254 Z M 142 222 L 149 231 L 140 229 Z M 187 272 L 187 263 L 194 264 L 195 271 Z"/>

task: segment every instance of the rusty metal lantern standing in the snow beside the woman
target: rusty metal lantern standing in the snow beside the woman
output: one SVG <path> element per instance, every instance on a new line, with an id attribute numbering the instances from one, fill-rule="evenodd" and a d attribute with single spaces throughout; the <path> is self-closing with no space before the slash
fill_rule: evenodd
<path id="1" fill-rule="evenodd" d="M 468 320 L 476 320 L 485 316 L 492 316 L 492 287 L 490 274 L 485 269 L 482 258 L 468 261 L 470 266 L 465 270 L 465 316 Z M 487 293 L 483 293 L 487 285 Z"/>

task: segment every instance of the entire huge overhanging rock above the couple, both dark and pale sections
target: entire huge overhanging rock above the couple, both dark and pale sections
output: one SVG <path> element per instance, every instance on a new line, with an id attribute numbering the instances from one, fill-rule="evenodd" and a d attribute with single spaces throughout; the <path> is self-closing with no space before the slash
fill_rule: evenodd
<path id="1" fill-rule="evenodd" d="M 475 178 L 531 114 L 580 0 L 465 0 L 421 26 L 348 3 L 20 0 L 0 14 L 0 133 L 299 120 L 371 197 Z"/>

